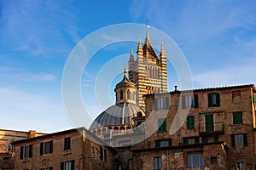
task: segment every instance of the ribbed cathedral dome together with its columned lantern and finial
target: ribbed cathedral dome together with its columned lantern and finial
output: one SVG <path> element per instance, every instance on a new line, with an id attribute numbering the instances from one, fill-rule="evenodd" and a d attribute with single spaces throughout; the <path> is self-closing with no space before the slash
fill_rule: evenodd
<path id="1" fill-rule="evenodd" d="M 124 69 L 124 78 L 117 83 L 114 88 L 116 94 L 115 105 L 110 106 L 106 111 L 103 111 L 96 117 L 90 125 L 90 130 L 95 130 L 102 134 L 103 129 L 110 129 L 114 133 L 127 132 L 127 129 L 137 127 L 138 122 L 143 122 L 145 112 L 142 108 L 136 105 L 136 87 L 128 77 L 126 77 L 126 67 Z M 105 131 L 104 130 L 104 131 Z"/>

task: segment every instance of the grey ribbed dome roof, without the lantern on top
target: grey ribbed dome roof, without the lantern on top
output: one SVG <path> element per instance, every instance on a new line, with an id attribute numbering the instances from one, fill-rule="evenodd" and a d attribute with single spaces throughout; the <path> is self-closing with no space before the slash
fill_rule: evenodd
<path id="1" fill-rule="evenodd" d="M 131 103 L 120 103 L 109 107 L 96 117 L 90 125 L 90 130 L 98 127 L 134 125 L 133 117 L 145 116 L 144 111 Z"/>

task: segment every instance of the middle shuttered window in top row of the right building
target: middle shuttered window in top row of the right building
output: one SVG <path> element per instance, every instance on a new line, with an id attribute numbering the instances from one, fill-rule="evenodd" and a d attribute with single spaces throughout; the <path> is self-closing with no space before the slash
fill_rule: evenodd
<path id="1" fill-rule="evenodd" d="M 190 108 L 198 108 L 198 94 L 182 96 L 182 109 Z"/>

